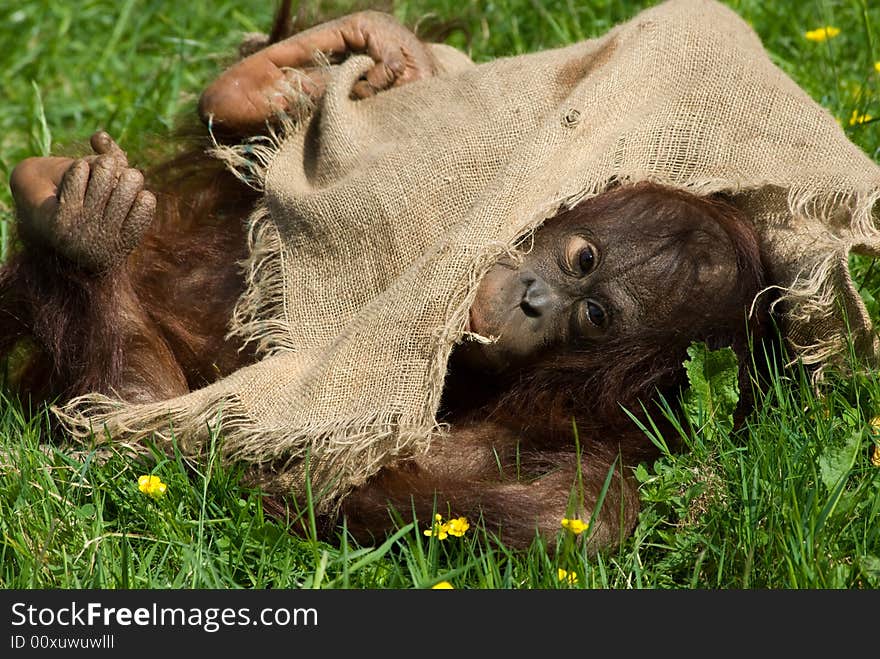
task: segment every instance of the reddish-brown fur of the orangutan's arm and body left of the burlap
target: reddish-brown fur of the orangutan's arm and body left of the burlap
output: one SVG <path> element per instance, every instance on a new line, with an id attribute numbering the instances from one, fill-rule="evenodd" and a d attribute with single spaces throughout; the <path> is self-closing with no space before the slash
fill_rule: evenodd
<path id="1" fill-rule="evenodd" d="M 252 359 L 225 333 L 256 193 L 196 150 L 147 180 L 156 220 L 125 268 L 88 275 L 26 245 L 0 272 L 0 349 L 35 344 L 18 375 L 34 402 L 90 391 L 158 400 Z"/>

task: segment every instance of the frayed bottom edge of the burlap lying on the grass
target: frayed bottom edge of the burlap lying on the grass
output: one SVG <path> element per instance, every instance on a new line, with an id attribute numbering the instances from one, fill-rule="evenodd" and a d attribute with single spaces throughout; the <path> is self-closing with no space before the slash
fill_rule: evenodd
<path id="1" fill-rule="evenodd" d="M 224 464 L 247 465 L 246 482 L 266 492 L 292 494 L 298 501 L 310 492 L 319 514 L 333 514 L 352 487 L 396 457 L 427 446 L 433 435 L 443 431 L 441 425 L 427 430 L 402 426 L 394 415 L 384 413 L 352 424 L 267 431 L 234 394 L 203 401 L 198 408 L 169 406 L 167 401 L 124 405 L 89 394 L 52 411 L 74 440 L 94 448 L 112 443 L 114 449 L 143 454 L 153 444 L 202 461 L 213 447 Z"/>

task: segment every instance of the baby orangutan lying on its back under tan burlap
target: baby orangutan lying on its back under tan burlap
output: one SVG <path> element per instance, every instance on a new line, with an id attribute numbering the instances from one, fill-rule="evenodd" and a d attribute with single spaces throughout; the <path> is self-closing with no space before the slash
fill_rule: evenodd
<path id="1" fill-rule="evenodd" d="M 383 14 L 279 32 L 202 95 L 215 131 L 264 130 L 285 109 L 290 70 L 319 97 L 316 50 L 373 57 L 358 97 L 434 73 L 425 46 Z M 252 363 L 227 331 L 258 193 L 204 154 L 145 180 L 109 135 L 91 143 L 93 156 L 32 158 L 12 174 L 24 249 L 0 272 L 0 353 L 27 341 L 19 392 L 161 401 Z M 748 310 L 763 286 L 755 232 L 721 198 L 643 183 L 559 212 L 480 283 L 469 329 L 497 341 L 453 352 L 439 410 L 448 435 L 350 492 L 348 530 L 369 542 L 395 526 L 389 506 L 423 524 L 436 510 L 525 547 L 555 537 L 572 511 L 589 518 L 611 474 L 587 543 L 616 545 L 638 513 L 630 468 L 655 455 L 623 408 L 658 391 L 674 399 L 692 341 L 730 345 L 747 364 L 763 315 L 747 320 Z M 336 521 L 323 520 L 328 537 Z"/>

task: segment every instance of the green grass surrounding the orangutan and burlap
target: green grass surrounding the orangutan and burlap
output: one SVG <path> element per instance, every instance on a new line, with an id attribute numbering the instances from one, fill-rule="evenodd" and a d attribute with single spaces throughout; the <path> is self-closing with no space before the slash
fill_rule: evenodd
<path id="1" fill-rule="evenodd" d="M 324 3 L 325 7 L 351 3 Z M 399 18 L 460 19 L 450 42 L 481 61 L 603 33 L 651 3 L 620 0 L 398 2 Z M 732 0 L 774 61 L 880 160 L 880 7 L 868 0 Z M 330 9 L 332 10 L 332 6 Z M 102 127 L 148 162 L 190 116 L 199 90 L 242 32 L 268 25 L 271 2 L 26 0 L 0 9 L 0 172 L 21 159 L 82 148 Z M 834 25 L 824 43 L 806 30 Z M 0 250 L 11 248 L 11 198 L 0 189 Z M 853 258 L 872 316 L 880 268 Z M 658 411 L 658 414 L 660 412 Z M 620 550 L 586 558 L 512 552 L 469 531 L 438 541 L 404 528 L 358 548 L 296 537 L 264 514 L 234 470 L 156 454 L 139 464 L 74 459 L 47 448 L 47 417 L 0 402 L 0 586 L 4 588 L 876 588 L 880 469 L 871 464 L 880 413 L 873 373 L 835 376 L 819 396 L 798 369 L 772 374 L 734 433 L 681 434 L 687 450 L 643 465 L 643 513 Z M 94 457 L 94 456 L 92 456 Z M 150 471 L 168 493 L 150 499 Z"/>

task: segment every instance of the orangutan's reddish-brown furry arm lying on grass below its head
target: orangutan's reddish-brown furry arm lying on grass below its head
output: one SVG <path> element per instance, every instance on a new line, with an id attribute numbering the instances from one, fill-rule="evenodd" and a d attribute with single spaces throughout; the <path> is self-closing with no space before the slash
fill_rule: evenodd
<path id="1" fill-rule="evenodd" d="M 569 425 L 564 437 L 551 441 L 522 418 L 518 427 L 478 420 L 453 425 L 427 455 L 383 470 L 350 494 L 342 506 L 348 530 L 368 542 L 381 539 L 396 520 L 430 522 L 436 510 L 480 520 L 512 547 L 526 547 L 539 535 L 552 543 L 562 517 L 590 518 L 612 472 L 589 543 L 593 549 L 614 546 L 632 530 L 639 508 L 623 460 L 645 454 L 647 440 L 633 431 L 596 439 L 582 437 L 577 447 Z"/>

